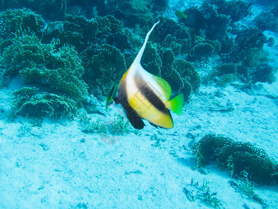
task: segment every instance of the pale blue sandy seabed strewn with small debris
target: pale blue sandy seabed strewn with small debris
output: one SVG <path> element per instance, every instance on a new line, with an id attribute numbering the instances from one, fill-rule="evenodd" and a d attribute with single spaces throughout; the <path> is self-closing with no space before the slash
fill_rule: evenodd
<path id="1" fill-rule="evenodd" d="M 124 136 L 81 132 L 77 121 L 44 119 L 40 126 L 8 120 L 8 89 L 1 93 L 0 208 L 209 208 L 189 201 L 191 180 L 208 183 L 223 208 L 262 208 L 231 187 L 231 172 L 215 164 L 195 170 L 190 144 L 205 134 L 250 141 L 278 160 L 278 82 L 259 84 L 254 95 L 234 86 L 202 86 L 173 114 L 172 130 L 152 125 Z M 275 99 L 276 98 L 276 99 Z M 220 111 L 233 105 L 233 111 Z M 104 111 L 104 102 L 99 103 Z M 105 112 L 105 111 L 104 111 Z M 115 117 L 96 115 L 103 123 Z M 109 143 L 109 141 L 112 143 Z M 277 185 L 254 185 L 270 208 L 278 206 Z"/>

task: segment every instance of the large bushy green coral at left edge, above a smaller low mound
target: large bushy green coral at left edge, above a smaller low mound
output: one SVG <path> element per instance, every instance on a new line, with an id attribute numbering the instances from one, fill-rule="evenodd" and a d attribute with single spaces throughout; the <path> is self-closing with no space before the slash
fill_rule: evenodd
<path id="1" fill-rule="evenodd" d="M 6 75 L 20 75 L 26 84 L 47 86 L 52 92 L 60 90 L 75 100 L 83 100 L 87 86 L 82 80 L 81 59 L 72 47 L 63 46 L 56 51 L 54 46 L 54 42 L 42 44 L 36 36 L 15 38 L 3 52 Z"/>

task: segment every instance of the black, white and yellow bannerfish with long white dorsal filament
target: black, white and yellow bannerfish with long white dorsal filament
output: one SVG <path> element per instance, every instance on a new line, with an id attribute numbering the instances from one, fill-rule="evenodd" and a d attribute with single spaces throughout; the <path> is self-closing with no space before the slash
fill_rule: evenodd
<path id="1" fill-rule="evenodd" d="M 170 84 L 147 72 L 140 64 L 147 40 L 156 24 L 147 33 L 136 59 L 122 76 L 120 84 L 113 86 L 106 101 L 106 109 L 108 106 L 117 109 L 136 129 L 145 126 L 142 119 L 155 127 L 172 128 L 174 124 L 169 109 L 181 116 L 183 107 L 183 94 L 169 100 L 172 94 Z"/>

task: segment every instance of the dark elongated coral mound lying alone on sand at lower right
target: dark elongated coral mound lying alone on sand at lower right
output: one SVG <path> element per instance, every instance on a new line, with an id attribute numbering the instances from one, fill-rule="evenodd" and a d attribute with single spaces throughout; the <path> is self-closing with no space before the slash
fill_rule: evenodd
<path id="1" fill-rule="evenodd" d="M 233 178 L 246 171 L 250 180 L 258 183 L 278 181 L 278 165 L 265 150 L 250 143 L 208 134 L 193 146 L 193 153 L 197 157 L 198 168 L 213 160 L 220 167 L 231 170 Z"/>

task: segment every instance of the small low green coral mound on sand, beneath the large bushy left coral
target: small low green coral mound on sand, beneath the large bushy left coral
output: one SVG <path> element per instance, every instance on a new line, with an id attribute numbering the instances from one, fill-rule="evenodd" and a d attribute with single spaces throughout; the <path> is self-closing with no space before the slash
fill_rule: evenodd
<path id="1" fill-rule="evenodd" d="M 14 112 L 26 117 L 72 118 L 76 116 L 76 102 L 53 93 L 40 93 L 38 88 L 24 87 L 13 93 Z"/>

